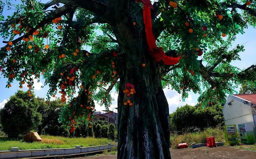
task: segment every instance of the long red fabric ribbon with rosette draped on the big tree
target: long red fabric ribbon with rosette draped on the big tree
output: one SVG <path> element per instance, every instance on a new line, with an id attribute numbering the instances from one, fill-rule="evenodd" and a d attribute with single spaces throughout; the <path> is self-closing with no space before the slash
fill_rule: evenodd
<path id="1" fill-rule="evenodd" d="M 150 0 L 136 0 L 136 2 L 143 3 L 143 19 L 144 19 L 149 54 L 153 56 L 153 58 L 155 58 L 156 62 L 163 60 L 165 65 L 175 65 L 179 63 L 180 57 L 169 57 L 165 55 L 165 52 L 162 47 L 156 46 L 156 39 L 152 31 L 151 10 L 150 10 L 150 8 L 152 9 L 154 8 Z"/>

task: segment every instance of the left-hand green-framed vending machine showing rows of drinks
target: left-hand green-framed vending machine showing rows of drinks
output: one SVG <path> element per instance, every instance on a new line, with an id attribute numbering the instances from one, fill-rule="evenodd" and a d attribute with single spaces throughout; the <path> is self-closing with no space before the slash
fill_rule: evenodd
<path id="1" fill-rule="evenodd" d="M 224 135 L 226 142 L 230 145 L 238 144 L 238 135 L 236 134 L 236 125 L 225 125 Z"/>

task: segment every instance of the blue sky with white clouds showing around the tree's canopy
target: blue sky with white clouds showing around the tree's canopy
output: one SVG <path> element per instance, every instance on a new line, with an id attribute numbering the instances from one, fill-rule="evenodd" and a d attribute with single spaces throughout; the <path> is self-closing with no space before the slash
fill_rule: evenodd
<path id="1" fill-rule="evenodd" d="M 4 0 L 3 0 L 4 1 Z M 42 2 L 47 2 L 48 0 L 42 0 Z M 18 3 L 20 2 L 19 0 L 14 1 L 13 3 Z M 6 10 L 4 9 L 3 11 L 3 15 L 6 17 L 7 15 L 10 15 L 13 13 L 13 10 Z M 245 46 L 245 52 L 240 53 L 240 57 L 241 57 L 241 61 L 233 61 L 232 65 L 233 66 L 237 66 L 240 69 L 244 69 L 246 67 L 251 66 L 252 64 L 256 63 L 256 56 L 255 56 L 255 50 L 256 50 L 256 29 L 254 29 L 253 27 L 249 27 L 248 29 L 245 30 L 245 34 L 243 35 L 237 35 L 237 39 L 234 42 L 233 46 L 237 45 L 237 44 L 244 44 Z M 3 39 L 2 37 L 0 37 L 0 47 L 4 46 L 4 44 L 2 43 Z M 13 95 L 18 89 L 19 89 L 19 83 L 18 82 L 14 82 L 12 83 L 12 87 L 11 88 L 5 88 L 7 79 L 3 78 L 3 76 L 0 75 L 0 107 L 4 106 L 4 103 L 7 102 L 7 100 L 9 99 L 9 97 L 11 95 Z M 44 83 L 44 79 L 40 79 L 40 82 L 37 82 L 36 84 L 34 84 L 35 86 L 35 94 L 37 96 L 46 97 L 46 93 L 48 91 L 48 86 L 45 86 L 44 88 L 41 88 L 42 84 Z M 27 88 L 24 87 L 22 90 L 26 91 Z M 237 91 L 239 91 L 239 88 L 237 88 Z M 189 98 L 186 99 L 185 102 L 180 102 L 180 95 L 175 92 L 172 91 L 171 89 L 164 89 L 167 101 L 169 103 L 169 112 L 173 112 L 176 110 L 176 108 L 178 106 L 182 106 L 185 105 L 186 103 L 194 105 L 197 103 L 197 98 L 198 98 L 198 94 L 194 94 L 193 92 L 191 92 L 189 94 Z M 113 97 L 116 99 L 112 105 L 111 105 L 111 109 L 113 109 L 114 107 L 117 107 L 117 94 L 112 92 L 111 93 L 113 95 Z M 99 105 L 96 106 L 96 110 L 104 110 L 104 107 L 100 107 Z"/>

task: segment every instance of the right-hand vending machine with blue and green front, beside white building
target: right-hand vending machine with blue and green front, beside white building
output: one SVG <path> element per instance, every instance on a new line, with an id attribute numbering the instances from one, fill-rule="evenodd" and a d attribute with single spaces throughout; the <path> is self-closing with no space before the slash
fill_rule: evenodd
<path id="1" fill-rule="evenodd" d="M 255 135 L 252 123 L 238 124 L 238 130 L 241 138 L 241 143 L 253 144 L 255 143 Z"/>

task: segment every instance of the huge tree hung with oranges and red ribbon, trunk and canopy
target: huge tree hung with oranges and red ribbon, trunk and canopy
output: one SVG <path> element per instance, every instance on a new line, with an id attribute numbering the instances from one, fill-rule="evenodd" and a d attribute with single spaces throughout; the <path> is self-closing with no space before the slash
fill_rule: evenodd
<path id="1" fill-rule="evenodd" d="M 236 35 L 256 24 L 254 1 L 21 1 L 12 15 L 0 15 L 6 87 L 17 80 L 33 90 L 34 80 L 45 78 L 47 100 L 60 90 L 66 105 L 59 121 L 73 132 L 77 121 L 90 120 L 94 102 L 108 109 L 115 86 L 119 159 L 170 158 L 163 88 L 182 100 L 200 93 L 203 107 L 255 83 L 255 65 L 230 64 L 244 51 L 230 49 Z"/>

